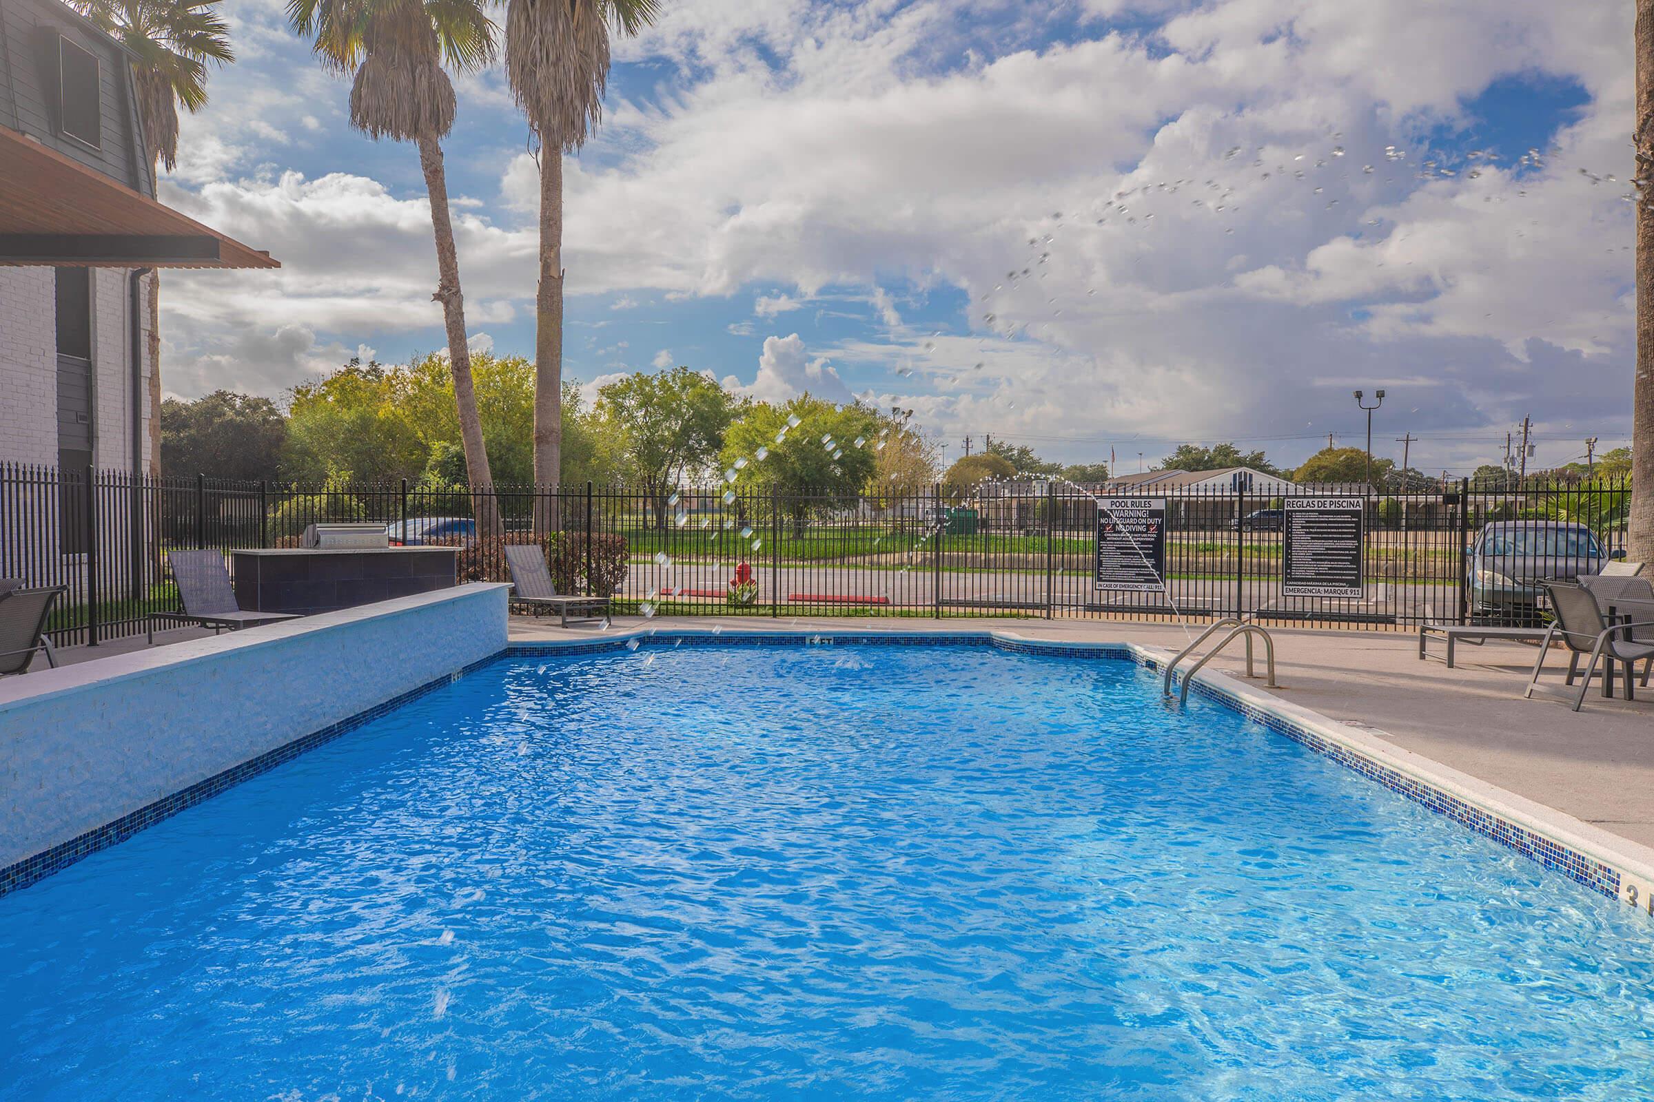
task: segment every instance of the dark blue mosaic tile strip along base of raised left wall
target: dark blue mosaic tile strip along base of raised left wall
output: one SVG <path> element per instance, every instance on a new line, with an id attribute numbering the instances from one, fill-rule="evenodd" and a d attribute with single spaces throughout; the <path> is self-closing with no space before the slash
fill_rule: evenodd
<path id="1" fill-rule="evenodd" d="M 384 701 L 382 704 L 375 704 L 374 707 L 364 712 L 357 712 L 349 719 L 341 719 L 337 724 L 329 724 L 321 730 L 313 730 L 311 734 L 301 739 L 294 739 L 293 742 L 283 743 L 275 750 L 266 750 L 265 753 L 260 753 L 256 758 L 248 758 L 246 762 L 227 768 L 222 773 L 215 773 L 205 780 L 198 780 L 189 788 L 182 788 L 172 793 L 170 796 L 164 796 L 160 800 L 155 800 L 154 803 L 147 803 L 136 811 L 127 811 L 121 818 L 104 823 L 99 828 L 89 829 L 84 834 L 71 838 L 66 843 L 60 843 L 51 849 L 43 849 L 31 857 L 23 857 L 17 864 L 10 864 L 0 869 L 0 895 L 28 887 L 30 884 L 35 884 L 36 881 L 41 881 L 51 876 L 53 872 L 66 869 L 68 866 L 74 864 L 76 861 L 81 861 L 83 857 L 89 857 L 99 849 L 108 849 L 116 843 L 122 843 L 132 834 L 146 828 L 151 828 L 155 823 L 160 823 L 162 819 L 169 819 L 179 811 L 194 808 L 197 803 L 213 798 L 227 788 L 235 788 L 245 780 L 251 780 L 260 773 L 268 773 L 278 765 L 283 765 L 299 757 L 306 750 L 314 750 L 324 742 L 332 742 L 339 735 L 356 730 L 362 724 L 370 724 L 380 715 L 394 712 L 404 704 L 417 701 L 427 692 L 433 692 L 442 686 L 452 684 L 458 677 L 475 672 L 483 666 L 491 666 L 506 654 L 508 651 L 500 651 L 498 654 L 490 654 L 488 658 L 471 663 L 465 669 L 458 669 L 452 674 L 443 674 L 435 681 L 427 681 L 417 689 L 409 689 L 407 692 L 394 696 L 389 701 Z"/>

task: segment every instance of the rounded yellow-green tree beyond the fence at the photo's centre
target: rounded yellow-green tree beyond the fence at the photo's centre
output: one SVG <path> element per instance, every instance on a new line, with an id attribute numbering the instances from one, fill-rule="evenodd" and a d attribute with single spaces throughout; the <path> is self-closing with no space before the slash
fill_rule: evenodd
<path id="1" fill-rule="evenodd" d="M 794 534 L 804 535 L 812 504 L 860 497 L 877 468 L 877 438 L 878 416 L 862 405 L 835 406 L 812 395 L 781 406 L 759 401 L 724 433 L 723 466 L 741 486 L 781 494 Z"/>

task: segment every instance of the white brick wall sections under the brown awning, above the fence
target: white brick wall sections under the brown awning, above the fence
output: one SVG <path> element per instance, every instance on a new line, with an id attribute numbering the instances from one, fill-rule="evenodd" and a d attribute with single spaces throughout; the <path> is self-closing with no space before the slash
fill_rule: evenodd
<path id="1" fill-rule="evenodd" d="M 0 461 L 58 463 L 56 309 L 51 268 L 0 268 Z M 149 463 L 149 301 L 141 289 L 144 385 L 139 411 Z M 94 463 L 106 471 L 132 466 L 132 378 L 127 372 L 127 271 L 93 271 Z"/>

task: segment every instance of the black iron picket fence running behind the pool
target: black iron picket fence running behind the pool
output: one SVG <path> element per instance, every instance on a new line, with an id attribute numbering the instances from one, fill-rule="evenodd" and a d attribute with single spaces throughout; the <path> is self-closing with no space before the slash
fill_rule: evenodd
<path id="1" fill-rule="evenodd" d="M 1320 494 L 1293 492 L 1312 496 Z M 1551 545 L 1563 534 L 1588 563 L 1563 563 L 1558 573 L 1601 568 L 1623 553 L 1629 506 L 1619 482 L 1358 491 L 1361 595 L 1295 596 L 1284 585 L 1288 499 L 1227 487 L 1108 497 L 1164 502 L 1161 590 L 1097 587 L 1098 514 L 1107 520 L 1108 512 L 1060 482 L 964 494 L 943 486 L 521 486 L 473 494 L 409 482 L 134 479 L 0 464 L 0 577 L 66 587 L 53 639 L 99 643 L 142 633 L 152 613 L 179 608 L 167 572 L 174 549 L 291 547 L 314 522 L 372 520 L 397 542 L 458 545 L 468 580 L 504 580 L 501 544 L 539 542 L 564 585 L 609 590 L 622 610 L 648 615 L 1257 615 L 1406 628 L 1502 615 L 1485 606 L 1499 590 L 1499 562 L 1467 553 L 1500 532 L 1507 547 L 1512 539 Z"/>

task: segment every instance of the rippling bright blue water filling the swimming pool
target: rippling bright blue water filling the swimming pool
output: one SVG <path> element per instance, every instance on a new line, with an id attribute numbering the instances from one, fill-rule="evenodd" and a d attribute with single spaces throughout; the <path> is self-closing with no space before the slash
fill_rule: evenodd
<path id="1" fill-rule="evenodd" d="M 526 658 L 0 897 L 0 1097 L 1619 1102 L 1651 933 L 1123 661 Z"/>

